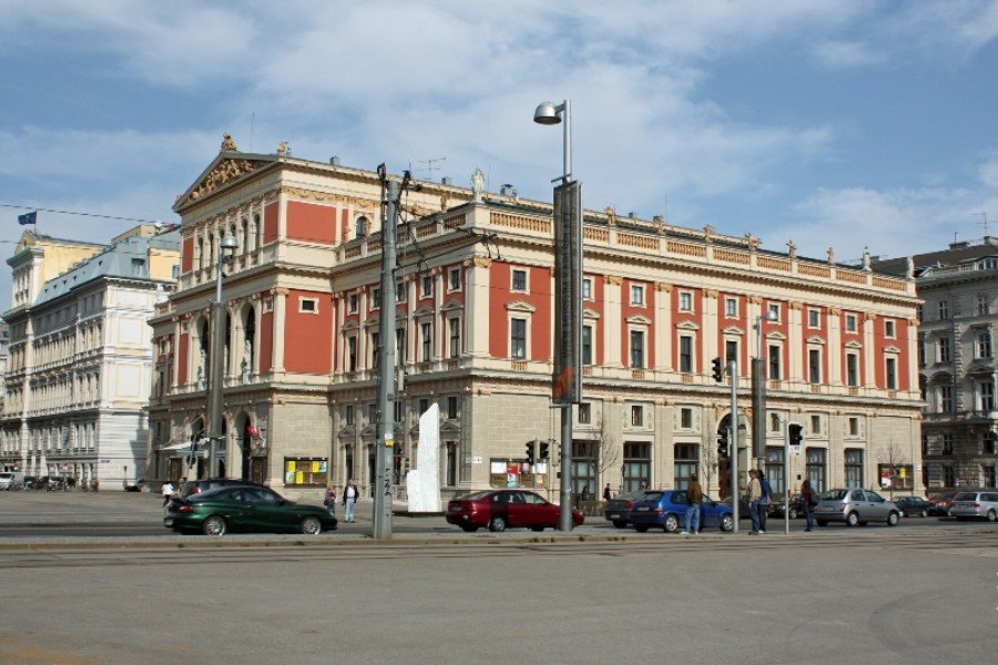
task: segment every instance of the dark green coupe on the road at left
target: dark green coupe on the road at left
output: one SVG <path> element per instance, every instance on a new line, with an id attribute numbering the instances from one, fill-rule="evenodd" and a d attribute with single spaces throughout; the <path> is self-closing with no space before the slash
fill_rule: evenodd
<path id="1" fill-rule="evenodd" d="M 336 518 L 320 505 L 295 503 L 261 487 L 227 487 L 176 499 L 163 525 L 174 531 L 225 535 L 230 531 L 297 531 L 317 534 L 336 530 Z"/>

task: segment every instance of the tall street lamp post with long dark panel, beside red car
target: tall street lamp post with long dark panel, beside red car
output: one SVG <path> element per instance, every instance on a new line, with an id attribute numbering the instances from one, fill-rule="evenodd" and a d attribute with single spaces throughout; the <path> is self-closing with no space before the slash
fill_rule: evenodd
<path id="1" fill-rule="evenodd" d="M 582 399 L 582 188 L 572 180 L 572 103 L 541 102 L 533 122 L 563 123 L 563 170 L 554 187 L 556 354 L 553 407 L 561 409 L 561 512 L 558 528 L 572 529 L 572 405 Z"/>

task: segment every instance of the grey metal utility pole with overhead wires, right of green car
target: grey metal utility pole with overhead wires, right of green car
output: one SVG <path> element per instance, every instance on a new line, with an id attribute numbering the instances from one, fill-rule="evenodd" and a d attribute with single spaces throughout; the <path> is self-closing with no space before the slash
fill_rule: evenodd
<path id="1" fill-rule="evenodd" d="M 384 177 L 384 175 L 383 175 Z M 373 536 L 391 538 L 391 453 L 395 450 L 395 235 L 398 183 L 387 185 L 381 215 L 381 318 L 378 326 L 378 438 L 375 442 L 377 484 Z"/>

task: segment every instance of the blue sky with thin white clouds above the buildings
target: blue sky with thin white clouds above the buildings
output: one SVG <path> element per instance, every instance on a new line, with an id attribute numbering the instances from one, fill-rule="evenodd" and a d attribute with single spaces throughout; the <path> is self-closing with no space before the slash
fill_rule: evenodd
<path id="1" fill-rule="evenodd" d="M 0 0 L 0 73 L 8 257 L 35 207 L 179 222 L 225 133 L 548 201 L 546 100 L 588 208 L 844 263 L 998 236 L 998 0 Z"/>

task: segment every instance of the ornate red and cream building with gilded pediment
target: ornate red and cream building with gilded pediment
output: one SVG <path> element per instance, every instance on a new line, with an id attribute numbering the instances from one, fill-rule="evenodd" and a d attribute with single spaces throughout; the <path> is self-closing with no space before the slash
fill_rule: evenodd
<path id="1" fill-rule="evenodd" d="M 205 460 L 189 469 L 185 459 L 206 420 L 214 256 L 227 231 L 240 248 L 225 268 L 224 473 L 291 493 L 353 478 L 369 492 L 384 316 L 378 175 L 227 147 L 175 205 L 180 283 L 151 321 L 151 471 L 161 479 L 207 472 Z M 446 181 L 419 185 L 403 198 L 398 231 L 398 495 L 416 459 L 418 417 L 434 402 L 445 500 L 497 485 L 554 495 L 553 464 L 523 463 L 528 441 L 554 441 L 560 431 L 551 409 L 551 205 L 511 187 L 475 196 Z M 574 491 L 682 487 L 699 472 L 709 492 L 723 494 L 729 460 L 716 439 L 731 389 L 711 378 L 711 359 L 737 360 L 739 421 L 751 424 L 757 346 L 775 491 L 796 491 L 803 478 L 818 488 L 879 487 L 880 458 L 902 446 L 914 456 L 902 463 L 919 464 L 909 446 L 920 429 L 910 279 L 835 264 L 831 252 L 827 260 L 796 256 L 793 243 L 788 254 L 765 252 L 751 235 L 612 208 L 587 211 L 583 236 Z M 760 323 L 767 311 L 776 320 Z M 787 421 L 804 426 L 788 478 Z M 750 453 L 740 456 L 744 471 Z M 920 491 L 914 477 L 906 489 Z"/>

